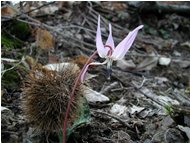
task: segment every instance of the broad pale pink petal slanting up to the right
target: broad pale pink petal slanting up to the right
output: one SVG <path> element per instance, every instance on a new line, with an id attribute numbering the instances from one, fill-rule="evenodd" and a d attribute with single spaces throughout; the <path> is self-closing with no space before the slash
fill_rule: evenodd
<path id="1" fill-rule="evenodd" d="M 125 39 L 123 39 L 115 48 L 113 54 L 112 54 L 112 58 L 114 60 L 120 60 L 122 59 L 125 54 L 127 53 L 127 51 L 129 50 L 129 48 L 131 47 L 131 45 L 133 44 L 137 33 L 140 29 L 143 28 L 143 25 L 138 26 L 137 28 L 135 28 L 133 31 L 129 32 L 129 34 L 127 35 L 127 37 L 125 37 Z"/>

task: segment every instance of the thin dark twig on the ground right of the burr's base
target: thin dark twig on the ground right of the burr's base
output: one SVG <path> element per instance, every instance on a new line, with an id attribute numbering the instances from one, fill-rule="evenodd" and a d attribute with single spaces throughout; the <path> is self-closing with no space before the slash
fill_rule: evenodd
<path id="1" fill-rule="evenodd" d="M 96 111 L 96 110 L 93 110 L 93 109 L 91 109 L 91 111 L 94 112 L 94 113 L 98 113 L 98 114 L 103 114 L 103 115 L 109 116 L 109 117 L 111 117 L 111 118 L 119 121 L 122 125 L 131 128 L 131 126 L 127 123 L 129 121 L 122 120 L 122 119 L 118 118 L 117 116 L 111 115 L 111 114 L 106 113 L 106 112 Z"/>

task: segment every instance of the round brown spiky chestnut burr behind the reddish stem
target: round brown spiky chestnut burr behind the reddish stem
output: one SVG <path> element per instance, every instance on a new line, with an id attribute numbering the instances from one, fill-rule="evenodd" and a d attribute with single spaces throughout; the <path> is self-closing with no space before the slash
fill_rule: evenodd
<path id="1" fill-rule="evenodd" d="M 73 66 L 65 66 L 59 71 L 37 68 L 29 73 L 24 81 L 22 107 L 34 128 L 45 133 L 62 129 L 69 95 L 78 73 L 79 70 Z M 75 95 L 68 124 L 77 118 L 79 99 L 84 95 L 81 84 L 77 86 Z"/>

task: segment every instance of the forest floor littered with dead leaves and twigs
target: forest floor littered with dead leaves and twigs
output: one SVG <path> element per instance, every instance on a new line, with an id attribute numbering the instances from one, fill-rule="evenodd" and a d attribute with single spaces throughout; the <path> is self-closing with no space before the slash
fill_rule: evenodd
<path id="1" fill-rule="evenodd" d="M 110 80 L 106 66 L 89 68 L 95 76 L 89 86 L 109 100 L 89 102 L 90 122 L 77 127 L 68 142 L 190 141 L 189 2 L 26 2 L 17 10 L 2 5 L 2 143 L 59 142 L 35 133 L 23 116 L 22 67 L 30 70 L 36 61 L 82 67 L 96 49 L 99 14 L 103 41 L 108 23 L 115 44 L 144 27 L 125 58 L 113 63 Z"/>

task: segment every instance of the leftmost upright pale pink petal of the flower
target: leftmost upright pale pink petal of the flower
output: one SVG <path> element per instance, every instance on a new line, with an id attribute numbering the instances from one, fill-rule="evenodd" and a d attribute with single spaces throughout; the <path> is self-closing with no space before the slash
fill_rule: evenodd
<path id="1" fill-rule="evenodd" d="M 96 48 L 98 51 L 98 55 L 101 58 L 106 57 L 108 49 L 104 48 L 104 44 L 102 42 L 101 29 L 100 29 L 100 15 L 98 16 L 98 27 L 96 32 Z"/>

